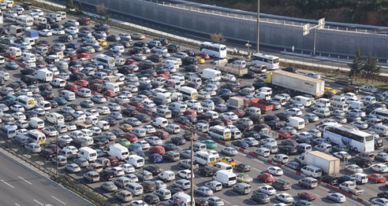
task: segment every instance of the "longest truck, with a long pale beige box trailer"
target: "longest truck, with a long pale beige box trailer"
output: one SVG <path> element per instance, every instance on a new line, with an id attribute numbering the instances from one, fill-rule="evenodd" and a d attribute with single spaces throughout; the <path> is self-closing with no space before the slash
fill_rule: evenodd
<path id="1" fill-rule="evenodd" d="M 269 72 L 263 82 L 272 85 L 272 87 L 287 88 L 299 93 L 312 95 L 316 98 L 322 97 L 325 90 L 325 82 L 322 79 L 315 79 L 286 71 Z"/>

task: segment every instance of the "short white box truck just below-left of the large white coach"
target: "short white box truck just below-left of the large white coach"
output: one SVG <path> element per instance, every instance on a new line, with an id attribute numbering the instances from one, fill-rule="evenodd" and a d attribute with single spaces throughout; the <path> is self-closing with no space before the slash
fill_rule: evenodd
<path id="1" fill-rule="evenodd" d="M 313 165 L 321 168 L 326 174 L 333 176 L 340 174 L 340 159 L 321 151 L 302 153 L 297 159 L 304 165 Z"/>

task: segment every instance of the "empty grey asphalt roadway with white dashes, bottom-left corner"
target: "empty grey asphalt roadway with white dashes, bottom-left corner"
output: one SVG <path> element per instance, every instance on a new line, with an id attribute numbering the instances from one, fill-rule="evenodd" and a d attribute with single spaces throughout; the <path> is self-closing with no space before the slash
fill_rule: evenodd
<path id="1" fill-rule="evenodd" d="M 8 158 L 0 158 L 1 205 L 88 205 Z"/>

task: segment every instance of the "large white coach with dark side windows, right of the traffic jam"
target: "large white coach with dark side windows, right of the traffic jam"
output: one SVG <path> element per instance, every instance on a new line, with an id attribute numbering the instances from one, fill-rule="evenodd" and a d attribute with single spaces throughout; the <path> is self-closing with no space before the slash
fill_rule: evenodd
<path id="1" fill-rule="evenodd" d="M 374 151 L 374 138 L 370 133 L 360 131 L 355 127 L 342 125 L 341 127 L 327 126 L 323 138 L 338 145 L 360 152 Z"/>

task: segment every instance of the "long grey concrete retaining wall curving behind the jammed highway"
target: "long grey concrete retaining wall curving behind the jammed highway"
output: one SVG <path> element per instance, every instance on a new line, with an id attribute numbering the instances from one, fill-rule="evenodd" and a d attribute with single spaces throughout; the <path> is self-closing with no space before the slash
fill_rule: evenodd
<path id="1" fill-rule="evenodd" d="M 85 3 L 105 3 L 112 10 L 125 12 L 128 15 L 140 16 L 164 24 L 197 30 L 200 32 L 221 32 L 227 39 L 245 39 L 256 42 L 256 21 L 235 19 L 218 15 L 182 10 L 163 6 L 157 3 L 138 0 L 78 0 Z M 312 51 L 314 30 L 303 36 L 303 28 L 283 24 L 261 22 L 261 44 L 279 46 L 281 48 Z M 388 56 L 386 35 L 345 32 L 337 30 L 317 30 L 317 53 L 337 53 L 354 55 L 360 48 L 362 53 L 386 58 Z"/>

